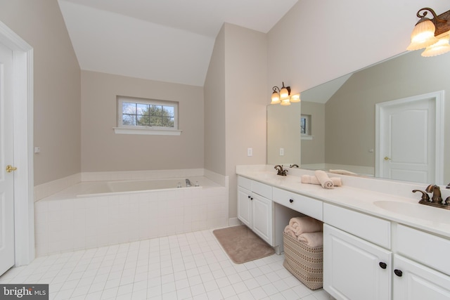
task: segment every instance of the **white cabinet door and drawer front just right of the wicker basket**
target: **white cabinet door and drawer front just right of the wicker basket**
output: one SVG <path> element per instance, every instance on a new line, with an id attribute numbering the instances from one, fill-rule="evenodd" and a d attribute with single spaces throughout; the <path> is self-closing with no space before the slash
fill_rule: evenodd
<path id="1" fill-rule="evenodd" d="M 327 203 L 323 221 L 323 288 L 336 299 L 391 299 L 390 222 Z"/>

